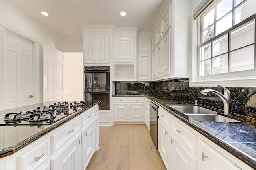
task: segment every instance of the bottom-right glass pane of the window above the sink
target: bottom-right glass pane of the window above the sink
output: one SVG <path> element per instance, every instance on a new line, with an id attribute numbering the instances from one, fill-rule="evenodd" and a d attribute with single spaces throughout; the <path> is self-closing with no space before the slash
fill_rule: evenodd
<path id="1" fill-rule="evenodd" d="M 230 53 L 230 71 L 243 71 L 254 69 L 254 45 Z"/>

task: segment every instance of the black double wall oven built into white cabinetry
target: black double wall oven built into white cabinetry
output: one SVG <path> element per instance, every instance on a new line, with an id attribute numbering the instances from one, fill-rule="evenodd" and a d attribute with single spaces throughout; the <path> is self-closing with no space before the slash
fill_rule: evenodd
<path id="1" fill-rule="evenodd" d="M 109 66 L 84 66 L 86 101 L 100 100 L 99 109 L 109 110 Z"/>

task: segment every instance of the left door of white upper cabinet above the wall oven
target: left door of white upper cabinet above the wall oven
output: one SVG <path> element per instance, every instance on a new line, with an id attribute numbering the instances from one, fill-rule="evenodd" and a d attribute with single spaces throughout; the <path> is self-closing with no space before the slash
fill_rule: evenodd
<path id="1" fill-rule="evenodd" d="M 84 62 L 97 63 L 97 34 L 84 34 Z"/>

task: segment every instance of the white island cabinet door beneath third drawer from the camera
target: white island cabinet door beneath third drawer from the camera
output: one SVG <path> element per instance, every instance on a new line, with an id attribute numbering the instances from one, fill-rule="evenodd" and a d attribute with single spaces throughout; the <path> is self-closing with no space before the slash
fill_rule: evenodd
<path id="1" fill-rule="evenodd" d="M 92 119 L 88 125 L 82 128 L 82 165 L 83 169 L 86 168 L 92 155 L 94 153 L 95 136 L 94 136 L 94 119 Z"/>

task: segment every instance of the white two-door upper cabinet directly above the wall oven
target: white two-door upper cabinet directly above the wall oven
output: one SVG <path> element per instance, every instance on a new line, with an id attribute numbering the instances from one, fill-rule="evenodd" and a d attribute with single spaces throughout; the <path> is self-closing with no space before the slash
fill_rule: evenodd
<path id="1" fill-rule="evenodd" d="M 84 63 L 109 63 L 109 34 L 84 34 Z"/>

